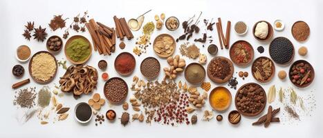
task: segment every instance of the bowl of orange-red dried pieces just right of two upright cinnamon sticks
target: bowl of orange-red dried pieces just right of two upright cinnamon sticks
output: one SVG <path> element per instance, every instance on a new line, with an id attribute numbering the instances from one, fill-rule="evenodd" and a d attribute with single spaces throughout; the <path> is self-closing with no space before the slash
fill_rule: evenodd
<path id="1" fill-rule="evenodd" d="M 236 41 L 230 48 L 230 59 L 237 66 L 248 66 L 254 55 L 255 52 L 248 41 Z"/>

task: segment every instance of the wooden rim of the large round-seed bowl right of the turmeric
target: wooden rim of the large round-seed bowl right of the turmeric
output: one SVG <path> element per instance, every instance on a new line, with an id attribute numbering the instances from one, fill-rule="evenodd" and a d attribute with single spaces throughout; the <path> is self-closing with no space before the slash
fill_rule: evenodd
<path id="1" fill-rule="evenodd" d="M 253 113 L 253 114 L 246 113 L 246 112 L 242 112 L 241 110 L 239 110 L 239 108 L 238 108 L 238 106 L 237 106 L 237 103 L 238 103 L 238 102 L 237 102 L 237 97 L 238 97 L 239 91 L 240 91 L 242 88 L 244 88 L 244 87 L 246 87 L 246 86 L 249 86 L 250 84 L 259 86 L 259 87 L 261 88 L 262 92 L 264 92 L 264 99 L 265 99 L 265 101 L 264 101 L 264 106 L 262 106 L 262 107 L 261 107 L 261 109 L 260 109 L 258 112 L 255 112 L 255 113 Z M 257 84 L 257 83 L 246 83 L 246 84 L 244 84 L 243 86 L 241 86 L 241 87 L 238 89 L 238 91 L 237 91 L 237 93 L 236 93 L 236 96 L 234 97 L 234 105 L 236 106 L 236 108 L 237 108 L 238 112 L 239 112 L 241 115 L 244 115 L 244 116 L 247 116 L 247 117 L 255 117 L 255 116 L 259 115 L 259 114 L 260 114 L 260 113 L 265 109 L 265 107 L 266 107 L 266 103 L 267 103 L 266 91 L 264 90 L 264 88 L 262 88 L 262 87 L 261 87 L 259 84 Z"/>

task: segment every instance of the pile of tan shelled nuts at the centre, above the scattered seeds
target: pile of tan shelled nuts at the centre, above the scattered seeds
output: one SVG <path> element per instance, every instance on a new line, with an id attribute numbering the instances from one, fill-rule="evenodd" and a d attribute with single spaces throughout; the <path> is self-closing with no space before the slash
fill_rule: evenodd
<path id="1" fill-rule="evenodd" d="M 181 59 L 179 55 L 167 58 L 167 63 L 169 64 L 169 68 L 164 68 L 165 79 L 176 79 L 178 72 L 183 72 L 186 63 L 184 59 Z"/>

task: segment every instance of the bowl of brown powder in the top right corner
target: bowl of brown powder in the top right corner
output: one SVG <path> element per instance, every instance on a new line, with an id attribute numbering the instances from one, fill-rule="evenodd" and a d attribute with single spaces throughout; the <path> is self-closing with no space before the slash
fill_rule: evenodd
<path id="1" fill-rule="evenodd" d="M 297 41 L 305 41 L 310 34 L 310 28 L 304 21 L 296 21 L 292 28 L 292 34 Z"/>

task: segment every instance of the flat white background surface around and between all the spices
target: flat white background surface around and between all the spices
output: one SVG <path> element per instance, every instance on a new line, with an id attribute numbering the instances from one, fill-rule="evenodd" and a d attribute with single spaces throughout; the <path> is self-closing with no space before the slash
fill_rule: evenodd
<path id="1" fill-rule="evenodd" d="M 323 121 L 322 115 L 322 88 L 320 88 L 320 83 L 322 83 L 322 2 L 318 1 L 9 1 L 2 0 L 0 1 L 0 72 L 1 72 L 1 98 L 0 98 L 0 137 L 322 137 L 322 128 Z M 65 121 L 56 121 L 55 124 L 47 124 L 41 126 L 37 117 L 33 117 L 26 124 L 21 125 L 15 119 L 17 115 L 17 107 L 12 105 L 12 100 L 14 99 L 15 90 L 11 89 L 12 83 L 20 81 L 16 79 L 12 73 L 12 66 L 19 63 L 15 59 L 15 50 L 18 46 L 26 44 L 30 46 L 32 52 L 35 53 L 39 50 L 46 50 L 45 43 L 38 43 L 35 40 L 26 41 L 21 34 L 24 32 L 24 25 L 27 21 L 35 21 L 35 27 L 46 26 L 46 32 L 48 32 L 48 37 L 53 34 L 58 34 L 62 36 L 64 30 L 57 30 L 55 32 L 50 31 L 48 23 L 50 19 L 53 18 L 54 14 L 64 14 L 63 17 L 72 18 L 78 13 L 82 13 L 86 10 L 89 10 L 90 17 L 93 17 L 95 21 L 100 21 L 107 26 L 114 26 L 113 15 L 117 17 L 125 17 L 127 20 L 131 18 L 136 18 L 138 15 L 143 12 L 152 9 L 149 14 L 145 16 L 145 23 L 147 21 L 154 21 L 154 15 L 165 12 L 166 17 L 176 16 L 182 22 L 187 20 L 189 17 L 192 17 L 193 14 L 198 15 L 200 11 L 203 11 L 201 17 L 200 26 L 204 26 L 203 19 L 212 19 L 216 21 L 217 17 L 221 17 L 223 28 L 225 28 L 226 21 L 232 21 L 232 26 L 237 21 L 245 21 L 248 25 L 248 34 L 245 37 L 239 37 L 234 33 L 232 27 L 232 33 L 230 37 L 230 43 L 239 39 L 244 39 L 249 41 L 255 49 L 255 58 L 259 57 L 260 54 L 257 52 L 257 46 L 264 46 L 265 52 L 262 55 L 268 55 L 268 43 L 260 43 L 254 37 L 252 37 L 252 32 L 250 31 L 255 22 L 259 20 L 266 20 L 270 23 L 273 23 L 275 19 L 282 19 L 286 23 L 286 28 L 283 32 L 274 32 L 273 37 L 284 36 L 290 39 L 293 42 L 295 49 L 297 50 L 300 46 L 306 46 L 308 48 L 307 57 L 299 57 L 297 52 L 295 52 L 294 61 L 297 59 L 306 59 L 309 61 L 315 68 L 315 80 L 308 88 L 297 90 L 299 95 L 309 95 L 311 91 L 315 95 L 316 99 L 316 110 L 311 113 L 312 117 L 303 117 L 302 121 L 299 121 L 297 124 L 272 124 L 269 128 L 265 129 L 264 127 L 251 126 L 253 121 L 256 121 L 256 118 L 247 118 L 243 117 L 238 126 L 232 126 L 228 123 L 227 117 L 229 110 L 234 110 L 234 103 L 232 102 L 230 109 L 227 112 L 224 112 L 222 115 L 225 120 L 222 122 L 217 122 L 216 119 L 212 121 L 201 121 L 203 116 L 202 112 L 199 113 L 198 124 L 192 125 L 181 125 L 178 127 L 163 126 L 161 124 L 152 123 L 151 125 L 140 123 L 138 121 L 131 122 L 128 126 L 124 127 L 120 125 L 120 121 L 116 121 L 113 124 L 109 122 L 104 122 L 104 125 L 95 127 L 94 119 L 92 119 L 91 124 L 88 126 L 82 126 L 78 124 L 73 118 L 74 106 L 76 103 L 81 101 L 87 101 L 91 95 L 82 95 L 82 98 L 75 100 L 71 95 L 65 95 L 58 100 L 66 106 L 70 106 L 71 110 L 69 111 L 70 116 Z M 292 34 L 290 33 L 290 28 L 295 21 L 304 20 L 311 28 L 311 35 L 305 43 L 299 43 L 293 39 Z M 71 23 L 71 19 L 68 20 L 66 25 Z M 321 24 L 321 26 L 320 26 Z M 214 26 L 214 28 L 216 28 Z M 201 32 L 204 28 L 201 28 Z M 216 29 L 213 32 L 208 32 L 212 34 L 214 38 L 214 43 L 219 46 L 218 37 L 216 34 Z M 169 33 L 174 36 L 176 39 L 183 33 L 183 29 L 180 28 L 176 32 L 169 32 L 165 26 L 163 30 L 155 31 L 151 36 L 151 41 L 154 40 L 156 35 L 161 33 Z M 194 37 L 201 37 L 200 34 L 194 34 Z M 73 30 L 70 31 L 71 36 L 76 34 Z M 86 31 L 82 34 L 88 39 L 91 40 L 89 33 Z M 98 52 L 93 52 L 91 59 L 87 64 L 97 68 L 97 63 L 100 59 L 106 59 L 108 61 L 108 69 L 110 77 L 120 77 L 116 74 L 113 68 L 113 61 L 115 57 L 120 52 L 131 52 L 133 46 L 135 46 L 136 37 L 139 37 L 141 34 L 140 31 L 133 32 L 135 39 L 131 41 L 125 41 L 127 46 L 124 50 L 120 50 L 116 46 L 116 53 L 113 53 L 111 56 L 101 56 L 98 55 Z M 320 40 L 321 39 L 321 40 Z M 192 41 L 193 39 L 191 39 Z M 66 42 L 66 40 L 64 40 Z M 119 43 L 119 41 L 117 41 Z M 175 54 L 179 54 L 178 47 L 183 43 L 180 41 L 177 43 L 177 48 Z M 199 43 L 198 43 L 199 44 Z M 202 44 L 199 44 L 201 52 L 207 54 L 207 48 L 202 48 Z M 206 44 L 205 46 L 208 46 Z M 144 54 L 140 57 L 136 56 L 137 66 L 133 75 L 138 75 L 142 78 L 139 70 L 139 63 L 145 57 L 154 56 L 157 57 L 153 50 L 152 46 L 149 46 L 147 54 Z M 228 50 L 219 50 L 221 56 L 228 57 Z M 56 56 L 57 59 L 65 58 L 64 52 L 61 51 L 59 55 Z M 207 54 L 208 61 L 212 58 Z M 187 59 L 185 57 L 185 59 Z M 162 68 L 165 67 L 165 59 L 159 59 Z M 187 64 L 191 62 L 197 62 L 198 59 L 190 60 L 187 59 Z M 28 63 L 22 64 L 25 67 L 25 75 L 23 79 L 30 77 L 28 75 Z M 68 66 L 71 63 L 68 63 Z M 206 68 L 206 65 L 204 66 Z M 284 69 L 288 71 L 289 67 L 279 66 L 276 64 L 276 70 Z M 250 73 L 250 66 L 248 68 L 237 68 L 234 67 L 235 71 L 245 70 L 249 72 L 249 77 L 243 81 L 239 79 L 238 88 L 243 85 L 243 83 L 255 81 Z M 234 71 L 234 72 L 235 72 Z M 48 84 L 53 88 L 53 83 L 58 83 L 59 77 L 62 77 L 65 70 L 59 67 L 57 75 L 54 81 Z M 98 70 L 99 75 L 101 71 Z M 276 71 L 276 75 L 277 75 Z M 132 77 L 124 78 L 128 85 L 131 85 Z M 163 78 L 163 72 L 160 73 L 159 78 Z M 159 80 L 160 80 L 159 79 Z M 177 81 L 185 81 L 183 75 L 177 79 Z M 40 85 L 36 84 L 33 80 L 26 87 L 36 86 L 37 90 L 41 88 Z M 210 81 L 206 78 L 205 81 Z M 276 88 L 280 86 L 293 86 L 288 79 L 286 81 L 280 81 L 277 76 L 270 81 L 270 83 L 262 84 L 265 90 L 268 90 L 270 85 L 275 84 Z M 103 97 L 103 86 L 104 81 L 99 79 L 98 89 L 95 92 L 99 92 Z M 212 83 L 212 88 L 217 86 L 215 83 Z M 226 86 L 226 84 L 225 84 Z M 230 89 L 232 96 L 235 95 L 236 91 Z M 128 98 L 131 95 L 129 91 Z M 268 104 L 267 104 L 268 106 Z M 276 108 L 277 106 L 274 106 Z M 121 106 L 109 106 L 105 104 L 101 112 L 104 113 L 108 109 L 113 108 L 117 111 L 117 114 L 120 116 L 122 112 Z M 203 110 L 210 110 L 210 106 L 207 104 Z M 133 112 L 132 110 L 128 110 Z M 264 111 L 266 112 L 266 111 Z M 261 115 L 264 115 L 262 112 Z M 215 113 L 217 115 L 217 113 Z M 53 114 L 52 114 L 53 115 Z M 281 116 L 282 114 L 279 114 Z M 53 118 L 53 116 L 51 116 Z M 321 135 L 321 136 L 320 136 Z"/>

